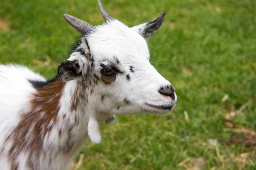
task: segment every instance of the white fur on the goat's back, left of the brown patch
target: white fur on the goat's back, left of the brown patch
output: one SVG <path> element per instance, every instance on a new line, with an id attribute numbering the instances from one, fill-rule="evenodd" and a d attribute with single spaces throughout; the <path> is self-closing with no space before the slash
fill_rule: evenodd
<path id="1" fill-rule="evenodd" d="M 36 91 L 29 80 L 46 81 L 26 67 L 0 65 L 0 170 L 10 169 L 7 153 L 11 143 L 6 138 L 17 126 L 20 111 L 29 109 L 31 94 Z"/>

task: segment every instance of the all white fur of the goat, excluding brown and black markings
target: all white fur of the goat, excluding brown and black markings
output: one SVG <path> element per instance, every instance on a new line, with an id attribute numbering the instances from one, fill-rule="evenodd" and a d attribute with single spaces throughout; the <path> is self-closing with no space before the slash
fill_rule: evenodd
<path id="1" fill-rule="evenodd" d="M 46 156 L 43 156 L 43 153 L 40 155 L 38 170 L 68 169 L 70 161 L 87 141 L 88 136 L 94 143 L 101 141 L 99 124 L 114 114 L 152 112 L 162 114 L 168 110 L 148 107 L 146 103 L 156 106 L 175 105 L 176 94 L 173 100 L 158 92 L 160 87 L 170 83 L 149 63 L 147 43 L 138 34 L 139 31 L 135 30 L 136 28 L 131 29 L 118 20 L 113 20 L 103 26 L 97 26 L 93 33 L 85 36 L 95 61 L 92 73 L 87 73 L 89 64 L 85 58 L 79 56 L 77 52 L 71 54 L 69 60 L 78 59 L 79 65 L 84 63 L 84 68 L 80 68 L 83 69 L 84 76 L 86 74 L 88 77 L 93 77 L 92 75 L 96 74 L 101 77 L 100 63 L 107 65 L 115 62 L 114 57 L 120 62 L 117 67 L 122 74 L 118 74 L 116 80 L 109 85 L 102 81 L 97 85 L 91 85 L 86 90 L 86 93 L 90 93 L 93 89 L 93 94 L 88 96 L 87 104 L 80 105 L 78 110 L 73 112 L 70 112 L 70 95 L 75 93 L 76 88 L 81 88 L 77 86 L 81 78 L 67 81 L 60 99 L 58 122 L 56 124 L 50 122 L 48 125 L 52 125 L 52 130 L 44 138 L 43 148 Z M 133 73 L 129 71 L 130 66 L 134 66 Z M 126 79 L 127 74 L 131 76 L 130 80 Z M 8 154 L 12 141 L 5 142 L 6 137 L 20 122 L 20 110 L 29 111 L 31 95 L 37 92 L 28 79 L 45 81 L 43 77 L 28 68 L 0 65 L 0 170 L 8 170 L 11 167 Z M 104 102 L 100 102 L 102 95 L 105 96 Z M 125 99 L 128 102 L 124 102 Z M 45 113 L 42 112 L 40 116 L 45 116 Z M 75 125 L 76 119 L 79 123 Z M 33 122 L 31 125 L 32 128 L 36 126 Z M 71 127 L 72 130 L 69 132 Z M 60 129 L 61 136 L 58 137 Z M 60 152 L 69 140 L 73 143 L 72 149 L 67 153 Z M 28 158 L 26 150 L 17 156 L 19 170 L 29 168 L 26 164 Z M 38 158 L 33 159 L 36 161 Z"/>

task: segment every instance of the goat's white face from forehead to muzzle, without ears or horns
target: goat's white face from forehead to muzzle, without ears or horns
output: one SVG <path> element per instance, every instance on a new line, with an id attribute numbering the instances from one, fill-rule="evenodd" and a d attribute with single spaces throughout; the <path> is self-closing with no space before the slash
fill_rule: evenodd
<path id="1" fill-rule="evenodd" d="M 145 38 L 134 28 L 114 20 L 97 27 L 87 40 L 93 74 L 101 80 L 95 91 L 105 96 L 100 111 L 165 113 L 175 105 L 174 89 L 150 64 Z"/>

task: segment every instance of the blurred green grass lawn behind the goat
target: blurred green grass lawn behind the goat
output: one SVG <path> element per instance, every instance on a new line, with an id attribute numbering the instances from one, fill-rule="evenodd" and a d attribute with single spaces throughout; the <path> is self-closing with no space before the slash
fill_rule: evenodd
<path id="1" fill-rule="evenodd" d="M 198 157 L 206 169 L 255 170 L 256 144 L 228 141 L 237 130 L 256 130 L 256 1 L 103 3 L 128 26 L 167 12 L 148 45 L 152 64 L 174 85 L 178 102 L 166 116 L 117 116 L 115 125 L 102 124 L 102 142 L 84 146 L 79 170 L 182 170 Z M 103 23 L 96 0 L 1 0 L 0 63 L 22 63 L 53 77 L 79 36 L 64 13 Z M 223 124 L 226 118 L 236 129 Z M 218 147 L 209 139 L 218 139 Z"/>

